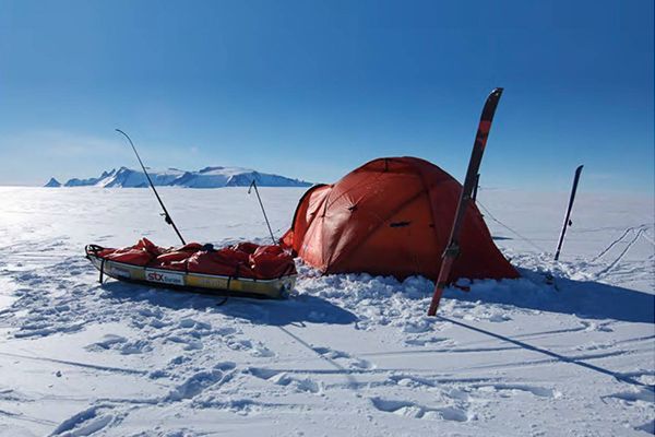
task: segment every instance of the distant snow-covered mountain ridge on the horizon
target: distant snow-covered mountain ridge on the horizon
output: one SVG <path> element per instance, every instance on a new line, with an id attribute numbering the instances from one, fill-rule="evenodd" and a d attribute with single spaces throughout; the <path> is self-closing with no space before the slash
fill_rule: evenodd
<path id="1" fill-rule="evenodd" d="M 241 167 L 205 167 L 198 172 L 168 168 L 165 170 L 147 169 L 155 186 L 187 188 L 247 187 L 253 180 L 261 187 L 309 187 L 310 182 L 291 179 L 279 175 L 259 173 Z M 46 187 L 59 187 L 51 178 Z M 105 187 L 105 188 L 142 188 L 147 187 L 147 179 L 142 170 L 120 167 L 118 170 L 103 172 L 99 177 L 88 179 L 73 178 L 63 184 L 64 187 Z"/>

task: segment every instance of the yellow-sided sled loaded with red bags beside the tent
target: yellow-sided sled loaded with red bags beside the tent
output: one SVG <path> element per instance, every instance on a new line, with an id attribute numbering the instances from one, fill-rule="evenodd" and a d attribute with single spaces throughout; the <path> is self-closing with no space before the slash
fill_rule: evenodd
<path id="1" fill-rule="evenodd" d="M 106 249 L 97 245 L 88 245 L 85 247 L 85 252 L 86 258 L 100 272 L 100 282 L 103 282 L 103 276 L 107 275 L 119 281 L 155 287 L 222 296 L 238 295 L 258 298 L 281 298 L 294 288 L 297 273 L 295 265 L 289 263 L 289 259 L 293 262 L 290 255 L 277 255 L 279 259 L 275 259 L 275 256 L 269 256 L 266 261 L 270 262 L 273 259 L 274 269 L 258 269 L 255 264 L 258 259 L 254 256 L 257 249 L 253 248 L 260 249 L 260 252 L 265 252 L 266 248 L 274 248 L 275 246 L 245 245 L 250 245 L 247 249 L 253 253 L 239 252 L 237 249 L 234 249 L 237 246 L 243 246 L 243 244 L 218 251 L 213 249 L 204 250 L 205 246 L 198 244 L 186 245 L 181 248 L 162 249 L 145 238 L 142 238 L 138 245 L 124 249 Z M 152 248 L 155 248 L 155 250 L 158 249 L 158 251 Z M 144 255 L 146 261 L 141 259 L 143 257 L 135 257 L 134 253 L 138 256 L 146 253 Z M 225 253 L 237 253 L 250 260 L 251 263 L 241 264 L 240 262 L 235 262 L 229 265 L 213 265 L 212 269 L 216 270 L 215 273 L 209 272 L 207 270 L 211 269 L 206 267 L 202 272 L 189 271 L 193 269 L 194 264 L 192 262 L 198 258 L 211 258 L 214 256 L 214 258 L 223 257 L 225 259 Z M 246 258 L 243 253 L 248 255 L 248 257 Z M 118 259 L 111 259 L 111 257 Z M 166 257 L 168 257 L 168 260 L 175 259 L 175 261 L 162 261 L 162 258 Z M 121 258 L 131 259 L 132 261 L 127 262 Z M 191 263 L 189 262 L 190 259 L 192 260 Z M 229 257 L 227 261 L 230 261 Z M 191 268 L 189 267 L 190 264 L 192 265 Z M 234 273 L 226 274 L 226 271 L 230 269 L 234 270 Z M 239 271 L 243 272 L 243 274 L 239 275 Z M 274 276 L 273 273 L 275 274 Z"/>

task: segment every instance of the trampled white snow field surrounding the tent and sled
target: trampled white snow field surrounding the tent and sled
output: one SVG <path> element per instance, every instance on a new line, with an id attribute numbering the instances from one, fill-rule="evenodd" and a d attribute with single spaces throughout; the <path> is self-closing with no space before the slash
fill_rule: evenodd
<path id="1" fill-rule="evenodd" d="M 302 192 L 261 189 L 276 235 Z M 160 194 L 189 240 L 266 240 L 245 188 Z M 150 191 L 0 197 L 0 435 L 653 433 L 652 199 L 581 190 L 553 262 L 568 193 L 481 191 L 523 277 L 449 288 L 429 318 L 426 279 L 320 276 L 301 264 L 285 300 L 216 306 L 100 286 L 85 244 L 177 243 Z M 544 283 L 549 271 L 559 291 Z"/>

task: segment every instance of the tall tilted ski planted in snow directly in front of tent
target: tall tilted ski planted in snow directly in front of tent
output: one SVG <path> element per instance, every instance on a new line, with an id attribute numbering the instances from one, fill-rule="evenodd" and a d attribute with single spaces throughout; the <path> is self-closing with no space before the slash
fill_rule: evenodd
<path id="1" fill-rule="evenodd" d="M 501 95 L 502 88 L 493 90 L 487 97 L 487 102 L 483 108 L 483 115 L 480 116 L 480 122 L 478 125 L 477 134 L 473 144 L 471 160 L 468 162 L 468 169 L 466 170 L 466 179 L 464 179 L 464 187 L 462 188 L 462 194 L 460 196 L 460 202 L 457 203 L 457 210 L 453 220 L 453 227 L 451 228 L 449 244 L 445 247 L 445 251 L 441 258 L 441 269 L 439 270 L 439 277 L 437 279 L 437 283 L 434 285 L 434 294 L 432 295 L 432 302 L 430 303 L 428 316 L 434 316 L 437 314 L 437 308 L 439 308 L 439 302 L 441 300 L 443 290 L 449 284 L 448 279 L 450 276 L 453 262 L 460 255 L 460 233 L 462 231 L 462 224 L 464 223 L 464 215 L 472 200 L 472 193 L 477 181 L 477 174 L 483 161 L 485 145 L 487 144 L 487 138 L 489 137 L 489 130 L 491 129 L 491 121 L 493 120 L 493 114 L 496 114 L 496 107 L 498 106 Z"/>

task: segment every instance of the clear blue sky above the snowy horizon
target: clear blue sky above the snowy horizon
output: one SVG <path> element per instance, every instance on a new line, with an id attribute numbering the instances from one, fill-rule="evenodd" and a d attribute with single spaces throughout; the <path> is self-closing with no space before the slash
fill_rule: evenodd
<path id="1" fill-rule="evenodd" d="M 653 1 L 0 0 L 0 185 L 136 165 L 334 181 L 415 155 L 483 187 L 653 192 Z"/>

